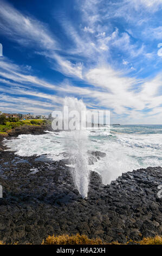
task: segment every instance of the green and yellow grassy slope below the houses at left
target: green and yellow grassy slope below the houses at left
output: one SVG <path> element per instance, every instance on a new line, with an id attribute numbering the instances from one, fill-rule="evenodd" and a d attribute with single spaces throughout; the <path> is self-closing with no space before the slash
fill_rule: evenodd
<path id="1" fill-rule="evenodd" d="M 0 115 L 0 132 L 5 133 L 11 129 L 14 129 L 23 125 L 45 125 L 47 120 L 44 119 L 32 119 L 32 120 L 20 120 L 18 118 L 6 118 L 5 115 Z"/>

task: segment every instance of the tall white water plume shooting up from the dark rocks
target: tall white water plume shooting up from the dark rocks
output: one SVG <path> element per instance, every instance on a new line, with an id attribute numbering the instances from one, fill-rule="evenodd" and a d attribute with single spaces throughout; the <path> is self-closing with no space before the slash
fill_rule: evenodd
<path id="1" fill-rule="evenodd" d="M 80 113 L 80 116 L 81 113 L 85 113 L 86 115 L 86 105 L 82 100 L 77 100 L 74 97 L 66 97 L 64 99 L 64 106 L 68 106 L 69 112 L 75 109 L 75 111 Z M 75 186 L 82 198 L 86 198 L 89 184 L 87 155 L 88 131 L 85 129 L 85 122 L 82 122 L 80 118 L 75 119 L 75 126 L 80 127 L 80 129 L 66 132 L 65 147 L 70 156 Z"/>

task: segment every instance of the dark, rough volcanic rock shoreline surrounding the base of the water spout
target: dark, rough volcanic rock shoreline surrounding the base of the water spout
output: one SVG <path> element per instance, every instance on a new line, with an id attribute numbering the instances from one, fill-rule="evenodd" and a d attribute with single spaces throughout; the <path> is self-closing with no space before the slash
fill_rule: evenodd
<path id="1" fill-rule="evenodd" d="M 66 161 L 1 150 L 0 240 L 39 244 L 48 235 L 79 233 L 125 243 L 161 235 L 161 183 L 161 167 L 124 173 L 107 186 L 91 172 L 82 199 Z"/>

